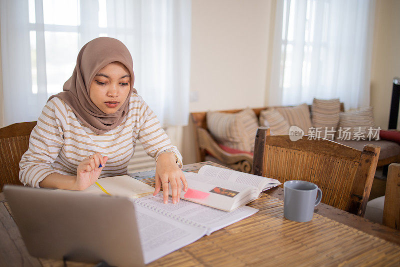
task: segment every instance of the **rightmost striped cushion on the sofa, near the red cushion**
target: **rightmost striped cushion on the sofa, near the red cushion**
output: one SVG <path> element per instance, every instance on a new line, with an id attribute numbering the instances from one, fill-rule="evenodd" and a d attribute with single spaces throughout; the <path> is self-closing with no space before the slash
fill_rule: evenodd
<path id="1" fill-rule="evenodd" d="M 372 107 L 361 108 L 357 110 L 340 112 L 339 113 L 339 124 L 338 130 L 336 132 L 336 138 L 347 140 L 353 140 L 357 138 L 357 132 L 365 131 L 365 139 L 368 134 L 368 129 L 370 127 L 375 128 L 373 124 L 373 109 Z M 362 128 L 358 128 L 362 127 Z M 340 131 L 340 128 L 342 131 Z M 350 134 L 345 135 L 345 128 Z M 364 129 L 365 128 L 365 129 Z"/>

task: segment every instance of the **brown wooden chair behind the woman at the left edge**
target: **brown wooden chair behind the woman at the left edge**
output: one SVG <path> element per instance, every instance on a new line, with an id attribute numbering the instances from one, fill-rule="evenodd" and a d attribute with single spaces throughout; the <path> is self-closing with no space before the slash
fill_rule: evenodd
<path id="1" fill-rule="evenodd" d="M 11 124 L 0 129 L 0 192 L 4 184 L 21 184 L 19 161 L 28 150 L 29 135 L 36 122 Z"/>

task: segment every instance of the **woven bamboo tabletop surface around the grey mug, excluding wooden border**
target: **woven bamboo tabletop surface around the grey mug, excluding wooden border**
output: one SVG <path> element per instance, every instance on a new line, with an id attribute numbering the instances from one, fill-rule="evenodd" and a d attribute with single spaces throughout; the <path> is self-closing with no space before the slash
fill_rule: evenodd
<path id="1" fill-rule="evenodd" d="M 400 264 L 400 246 L 314 214 L 309 222 L 283 217 L 283 201 L 269 195 L 249 206 L 251 217 L 204 236 L 150 266 Z"/>

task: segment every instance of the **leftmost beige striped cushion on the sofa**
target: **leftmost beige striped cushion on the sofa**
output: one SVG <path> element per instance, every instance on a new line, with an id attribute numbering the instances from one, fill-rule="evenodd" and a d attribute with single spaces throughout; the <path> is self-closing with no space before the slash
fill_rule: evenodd
<path id="1" fill-rule="evenodd" d="M 237 113 L 207 112 L 206 119 L 209 132 L 221 145 L 242 151 L 254 150 L 258 122 L 252 109 Z"/>

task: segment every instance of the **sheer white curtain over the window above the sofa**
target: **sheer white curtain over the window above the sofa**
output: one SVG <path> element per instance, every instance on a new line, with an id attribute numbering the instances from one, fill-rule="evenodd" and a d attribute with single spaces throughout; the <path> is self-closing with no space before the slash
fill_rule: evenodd
<path id="1" fill-rule="evenodd" d="M 269 105 L 369 105 L 374 0 L 277 0 Z"/>

